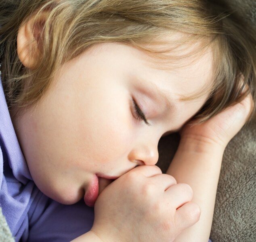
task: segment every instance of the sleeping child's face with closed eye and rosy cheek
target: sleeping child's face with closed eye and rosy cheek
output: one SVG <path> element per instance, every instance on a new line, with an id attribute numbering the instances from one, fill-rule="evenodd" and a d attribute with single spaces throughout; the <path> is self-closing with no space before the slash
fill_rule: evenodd
<path id="1" fill-rule="evenodd" d="M 136 165 L 155 165 L 159 139 L 204 104 L 207 96 L 182 102 L 178 94 L 211 83 L 211 53 L 175 71 L 153 69 L 146 57 L 124 44 L 93 46 L 65 63 L 39 104 L 13 120 L 31 176 L 44 194 L 73 204 L 96 173 L 119 177 Z M 154 96 L 157 88 L 171 94 L 170 109 Z M 132 97 L 151 126 L 136 119 Z M 110 182 L 100 178 L 100 192 Z"/>

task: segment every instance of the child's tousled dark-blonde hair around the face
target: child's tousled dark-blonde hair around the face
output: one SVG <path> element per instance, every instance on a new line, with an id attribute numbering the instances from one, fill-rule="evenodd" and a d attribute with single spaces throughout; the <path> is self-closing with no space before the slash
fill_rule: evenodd
<path id="1" fill-rule="evenodd" d="M 15 115 L 39 101 L 61 65 L 90 46 L 122 42 L 164 60 L 170 57 L 166 53 L 172 52 L 171 48 L 157 50 L 149 46 L 164 43 L 158 36 L 176 32 L 186 36 L 176 40 L 176 44 L 200 41 L 204 48 L 210 46 L 214 52 L 210 95 L 194 116 L 199 122 L 239 102 L 248 93 L 256 102 L 255 29 L 246 27 L 236 13 L 228 13 L 210 1 L 4 0 L 0 5 L 2 84 L 8 107 L 16 110 Z M 35 68 L 28 69 L 17 55 L 17 33 L 35 13 L 34 27 L 41 30 L 37 40 L 40 58 Z M 44 22 L 41 13 L 48 13 Z M 254 112 L 255 105 L 251 117 Z"/>

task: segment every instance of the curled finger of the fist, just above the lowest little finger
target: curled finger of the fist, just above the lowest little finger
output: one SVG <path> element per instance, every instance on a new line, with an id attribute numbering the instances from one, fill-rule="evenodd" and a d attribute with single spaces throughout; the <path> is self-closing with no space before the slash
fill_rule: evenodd
<path id="1" fill-rule="evenodd" d="M 176 185 L 170 186 L 165 194 L 170 197 L 175 209 L 182 206 L 186 202 L 190 202 L 193 198 L 193 190 L 191 186 L 185 183 L 178 183 Z"/>

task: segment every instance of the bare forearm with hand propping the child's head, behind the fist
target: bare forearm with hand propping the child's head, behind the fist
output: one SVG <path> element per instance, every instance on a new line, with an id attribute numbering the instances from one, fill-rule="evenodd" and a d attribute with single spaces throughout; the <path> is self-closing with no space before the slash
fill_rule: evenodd
<path id="1" fill-rule="evenodd" d="M 201 208 L 201 217 L 193 226 L 183 230 L 175 242 L 208 241 L 223 152 L 246 123 L 253 106 L 252 95 L 248 94 L 241 102 L 206 122 L 185 125 L 181 130 L 180 146 L 167 174 L 172 175 L 177 183 L 191 186 L 192 201 Z"/>

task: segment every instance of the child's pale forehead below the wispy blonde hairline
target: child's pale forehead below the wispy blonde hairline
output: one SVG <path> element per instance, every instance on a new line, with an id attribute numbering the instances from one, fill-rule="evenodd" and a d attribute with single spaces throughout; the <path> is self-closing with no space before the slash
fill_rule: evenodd
<path id="1" fill-rule="evenodd" d="M 180 36 L 178 37 L 181 38 Z M 174 41 L 166 41 L 162 45 L 159 42 L 151 42 L 151 45 L 143 46 L 151 50 L 169 48 L 169 52 L 164 53 L 165 58 L 162 58 L 162 54 L 155 55 L 137 46 L 118 42 L 96 44 L 92 47 L 92 52 L 101 56 L 102 63 L 105 63 L 108 69 L 113 69 L 111 73 L 124 71 L 131 79 L 144 80 L 145 84 L 151 81 L 160 89 L 169 92 L 172 99 L 191 100 L 202 96 L 205 98 L 214 79 L 212 49 L 203 48 L 200 42 L 186 43 L 184 39 L 180 44 L 174 35 L 172 39 Z M 90 55 L 90 62 L 92 59 Z"/>

